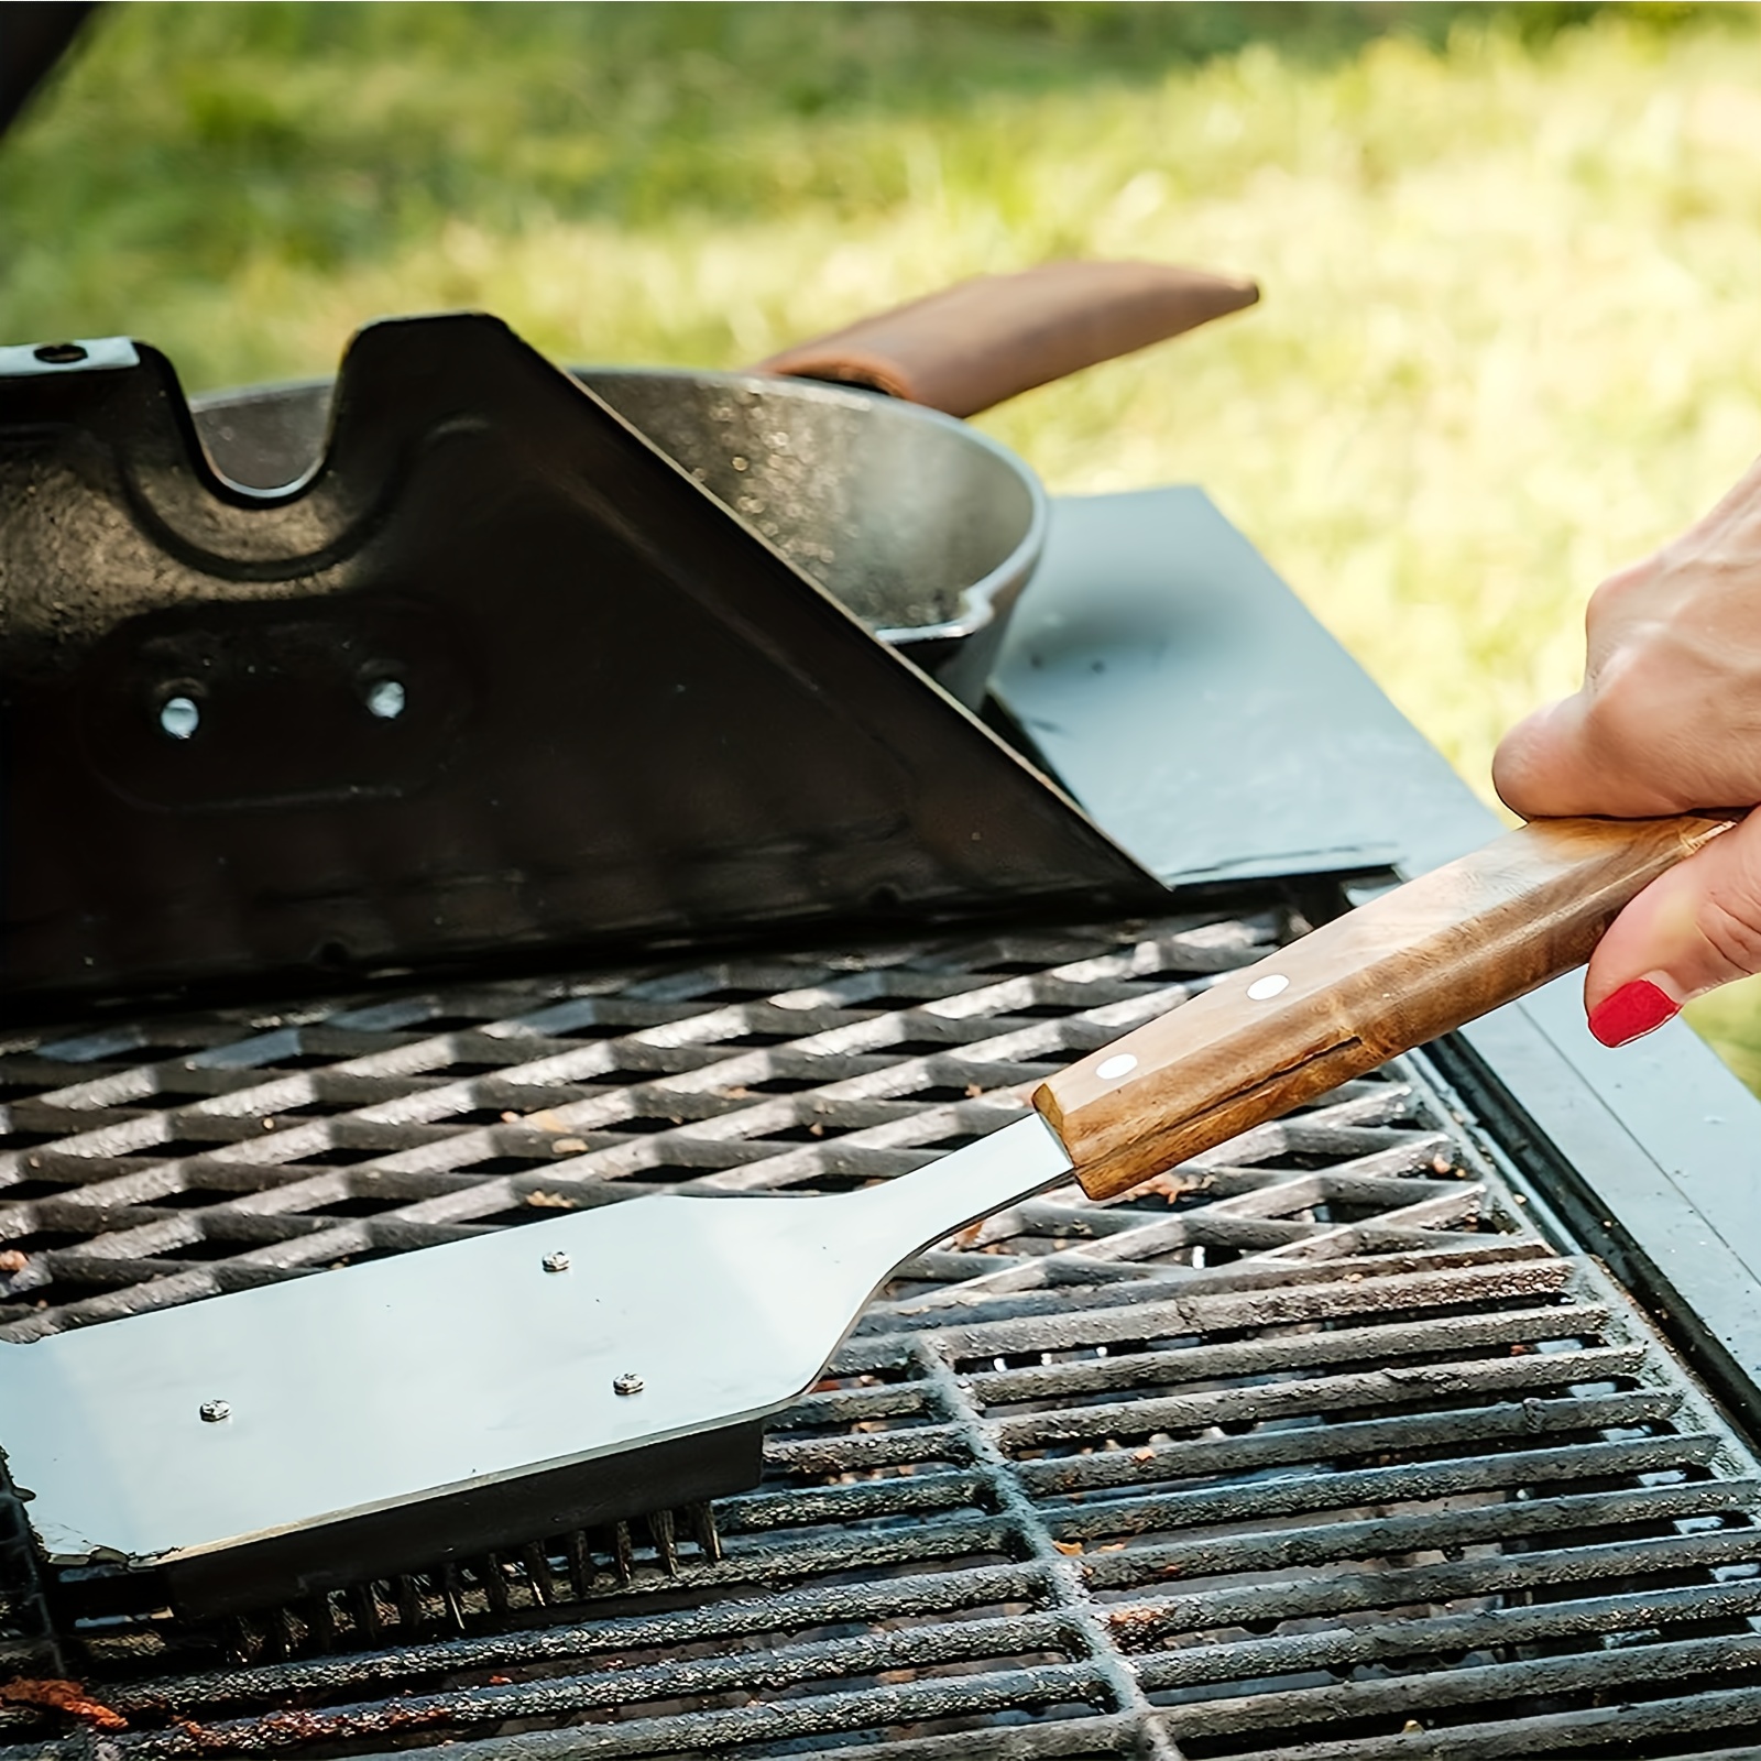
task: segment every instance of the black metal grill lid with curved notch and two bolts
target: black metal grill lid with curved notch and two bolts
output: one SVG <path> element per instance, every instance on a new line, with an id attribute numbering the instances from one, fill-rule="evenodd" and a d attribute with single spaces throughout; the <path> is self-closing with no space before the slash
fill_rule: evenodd
<path id="1" fill-rule="evenodd" d="M 1164 889 L 488 317 L 217 477 L 162 356 L 0 350 L 0 962 L 32 993 Z"/>

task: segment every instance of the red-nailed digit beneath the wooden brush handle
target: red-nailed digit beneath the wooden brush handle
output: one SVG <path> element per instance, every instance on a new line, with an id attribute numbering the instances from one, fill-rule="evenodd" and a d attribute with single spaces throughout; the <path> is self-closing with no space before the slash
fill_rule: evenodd
<path id="1" fill-rule="evenodd" d="M 1583 1002 L 1604 1046 L 1662 1027 L 1684 1002 L 1761 972 L 1761 814 L 1659 875 L 1590 958 Z"/>

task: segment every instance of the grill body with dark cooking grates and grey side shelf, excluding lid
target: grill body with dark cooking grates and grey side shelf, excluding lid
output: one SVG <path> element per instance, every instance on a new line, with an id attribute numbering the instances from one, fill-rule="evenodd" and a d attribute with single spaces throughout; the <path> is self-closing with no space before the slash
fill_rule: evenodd
<path id="1" fill-rule="evenodd" d="M 9 1032 L 5 1338 L 891 1178 L 1485 829 L 1192 493 L 1060 507 L 997 683 L 1178 914 Z M 1604 1081 L 1571 1007 L 939 1243 L 713 1529 L 192 1624 L 0 1500 L 0 1761 L 1750 1752 L 1754 1115 L 1682 1039 Z"/>

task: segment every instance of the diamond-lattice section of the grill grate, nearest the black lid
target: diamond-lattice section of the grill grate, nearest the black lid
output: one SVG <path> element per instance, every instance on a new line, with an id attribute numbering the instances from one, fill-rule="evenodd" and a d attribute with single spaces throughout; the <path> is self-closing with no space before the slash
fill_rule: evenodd
<path id="1" fill-rule="evenodd" d="M 0 1340 L 641 1192 L 884 1180 L 1286 930 L 1183 919 L 0 1039 Z M 1430 1166 L 1448 1143 L 1407 1111 L 1398 1085 L 1358 1085 L 1314 1148 L 1293 1124 L 1180 1194 L 1023 1206 L 912 1286 L 1472 1231 L 1477 1189 Z"/>

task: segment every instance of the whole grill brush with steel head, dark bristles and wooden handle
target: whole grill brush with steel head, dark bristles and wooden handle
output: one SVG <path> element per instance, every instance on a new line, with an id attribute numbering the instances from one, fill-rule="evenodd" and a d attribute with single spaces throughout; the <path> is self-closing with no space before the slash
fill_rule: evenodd
<path id="1" fill-rule="evenodd" d="M 414 1627 L 424 1599 L 461 1618 L 467 1588 L 493 1611 L 509 1555 L 549 1583 L 532 1550 L 558 1536 L 581 1592 L 585 1529 L 616 1536 L 755 1483 L 766 1416 L 815 1382 L 898 1263 L 1071 1175 L 1113 1197 L 1525 995 L 1726 826 L 1509 833 L 1231 972 L 1053 1076 L 1028 1116 L 877 1187 L 634 1199 L 5 1347 L 9 1467 L 56 1594 L 76 1615 L 146 1599 L 203 1618 L 347 1587 L 366 1608 L 379 1583 Z M 673 1520 L 652 1534 L 666 1557 Z M 703 1516 L 696 1539 L 713 1553 Z M 465 1566 L 483 1557 L 488 1576 Z"/>

